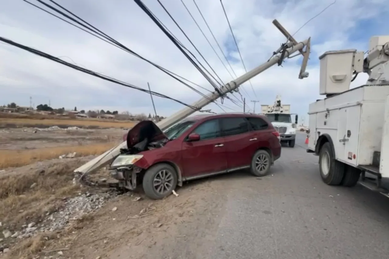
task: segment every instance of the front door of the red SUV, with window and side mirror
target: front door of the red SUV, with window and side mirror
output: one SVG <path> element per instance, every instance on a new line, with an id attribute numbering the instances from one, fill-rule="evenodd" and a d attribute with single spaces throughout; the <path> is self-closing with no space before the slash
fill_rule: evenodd
<path id="1" fill-rule="evenodd" d="M 219 120 L 202 122 L 189 134 L 200 135 L 198 141 L 182 142 L 182 168 L 184 177 L 194 177 L 227 170 L 226 147 L 221 137 Z M 188 134 L 188 135 L 189 135 Z"/>

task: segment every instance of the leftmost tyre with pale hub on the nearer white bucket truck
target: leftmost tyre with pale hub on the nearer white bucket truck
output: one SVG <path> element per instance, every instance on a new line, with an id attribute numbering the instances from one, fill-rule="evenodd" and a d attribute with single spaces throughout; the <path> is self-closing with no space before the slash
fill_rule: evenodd
<path id="1" fill-rule="evenodd" d="M 335 159 L 331 144 L 324 143 L 319 154 L 320 175 L 323 182 L 328 185 L 339 185 L 342 182 L 345 166 Z"/>

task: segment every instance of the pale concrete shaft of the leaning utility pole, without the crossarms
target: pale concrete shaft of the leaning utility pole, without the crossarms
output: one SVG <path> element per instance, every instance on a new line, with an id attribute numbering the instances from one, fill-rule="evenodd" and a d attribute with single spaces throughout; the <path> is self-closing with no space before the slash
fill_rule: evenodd
<path id="1" fill-rule="evenodd" d="M 297 45 L 294 45 L 293 47 L 289 48 L 286 50 L 286 53 L 288 53 L 288 56 L 290 54 L 293 54 L 296 51 L 300 51 L 301 49 L 304 48 L 308 43 L 308 39 L 304 40 L 303 42 L 298 43 Z M 267 62 L 263 63 L 262 65 L 254 68 L 253 70 L 245 73 L 244 75 L 238 77 L 237 79 L 229 82 L 225 86 L 223 86 L 220 90 L 221 94 L 227 94 L 229 92 L 232 92 L 236 90 L 240 85 L 242 85 L 244 82 L 247 82 L 248 80 L 252 79 L 259 73 L 262 73 L 266 69 L 270 68 L 271 66 L 275 65 L 278 63 L 278 61 L 281 58 L 281 54 L 273 56 L 273 58 L 269 59 Z M 196 101 L 193 103 L 191 106 L 196 107 L 196 108 L 203 108 L 209 103 L 216 101 L 220 97 L 219 93 L 214 91 L 213 93 L 207 94 L 207 97 L 203 97 L 200 100 Z M 193 108 L 190 107 L 185 107 L 175 114 L 167 117 L 166 119 L 163 119 L 162 121 L 157 123 L 157 126 L 161 130 L 165 130 L 172 126 L 173 124 L 181 121 L 182 119 L 186 118 L 187 116 L 193 114 L 196 112 Z M 110 149 L 109 151 L 101 154 L 100 156 L 92 159 L 88 163 L 80 166 L 79 168 L 75 169 L 74 172 L 80 172 L 80 173 L 89 173 L 93 172 L 95 170 L 98 170 L 102 168 L 103 166 L 107 165 L 108 163 L 112 162 L 116 156 L 120 154 L 120 149 L 126 148 L 127 143 L 124 141 L 123 143 L 117 145 L 116 147 Z"/>

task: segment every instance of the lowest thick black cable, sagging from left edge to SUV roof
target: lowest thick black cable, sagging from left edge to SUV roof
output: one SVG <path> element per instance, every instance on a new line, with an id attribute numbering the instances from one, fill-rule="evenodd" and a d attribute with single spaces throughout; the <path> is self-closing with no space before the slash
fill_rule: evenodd
<path id="1" fill-rule="evenodd" d="M 33 54 L 36 54 L 36 55 L 41 56 L 43 58 L 47 58 L 47 59 L 49 59 L 51 61 L 54 61 L 56 63 L 60 63 L 62 65 L 68 66 L 68 67 L 73 68 L 75 70 L 87 73 L 89 75 L 93 75 L 93 76 L 98 77 L 100 79 L 103 79 L 103 80 L 106 80 L 106 81 L 109 81 L 109 82 L 113 82 L 113 83 L 116 83 L 116 84 L 120 84 L 122 86 L 130 87 L 132 89 L 136 89 L 136 90 L 139 90 L 139 91 L 142 91 L 142 92 L 145 92 L 145 93 L 149 93 L 149 94 L 152 94 L 152 95 L 155 95 L 155 96 L 159 96 L 159 97 L 162 97 L 162 98 L 173 100 L 173 101 L 176 101 L 177 103 L 180 103 L 182 105 L 190 107 L 190 108 L 192 108 L 194 110 L 200 110 L 200 108 L 197 108 L 197 107 L 194 107 L 192 105 L 186 104 L 186 103 L 184 103 L 182 101 L 179 101 L 179 100 L 174 99 L 172 97 L 166 96 L 165 94 L 161 94 L 161 93 L 158 93 L 158 92 L 155 92 L 155 91 L 149 91 L 149 90 L 143 89 L 142 87 L 138 87 L 138 86 L 135 86 L 133 84 L 128 84 L 126 82 L 114 79 L 113 77 L 109 77 L 109 76 L 103 75 L 101 73 L 96 73 L 93 70 L 82 68 L 81 66 L 74 65 L 74 64 L 69 63 L 67 61 L 64 61 L 63 59 L 57 58 L 56 56 L 52 56 L 50 54 L 44 53 L 44 52 L 39 51 L 37 49 L 33 49 L 32 47 L 28 47 L 28 46 L 19 44 L 19 43 L 14 42 L 14 41 L 12 41 L 10 39 L 6 39 L 4 37 L 0 37 L 0 41 L 5 42 L 5 43 L 7 43 L 9 45 L 12 45 L 14 47 L 18 47 L 19 49 L 24 49 L 25 51 L 28 51 L 28 52 L 33 53 Z"/>

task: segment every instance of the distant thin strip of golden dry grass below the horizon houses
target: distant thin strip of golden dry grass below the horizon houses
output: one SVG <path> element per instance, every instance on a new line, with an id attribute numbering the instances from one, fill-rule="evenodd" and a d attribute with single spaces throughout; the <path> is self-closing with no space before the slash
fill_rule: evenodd
<path id="1" fill-rule="evenodd" d="M 27 126 L 78 126 L 78 127 L 101 127 L 101 128 L 131 128 L 137 122 L 134 121 L 103 121 L 98 119 L 54 119 L 47 117 L 20 117 L 20 118 L 0 118 L 0 126 L 17 125 L 21 127 Z"/>

